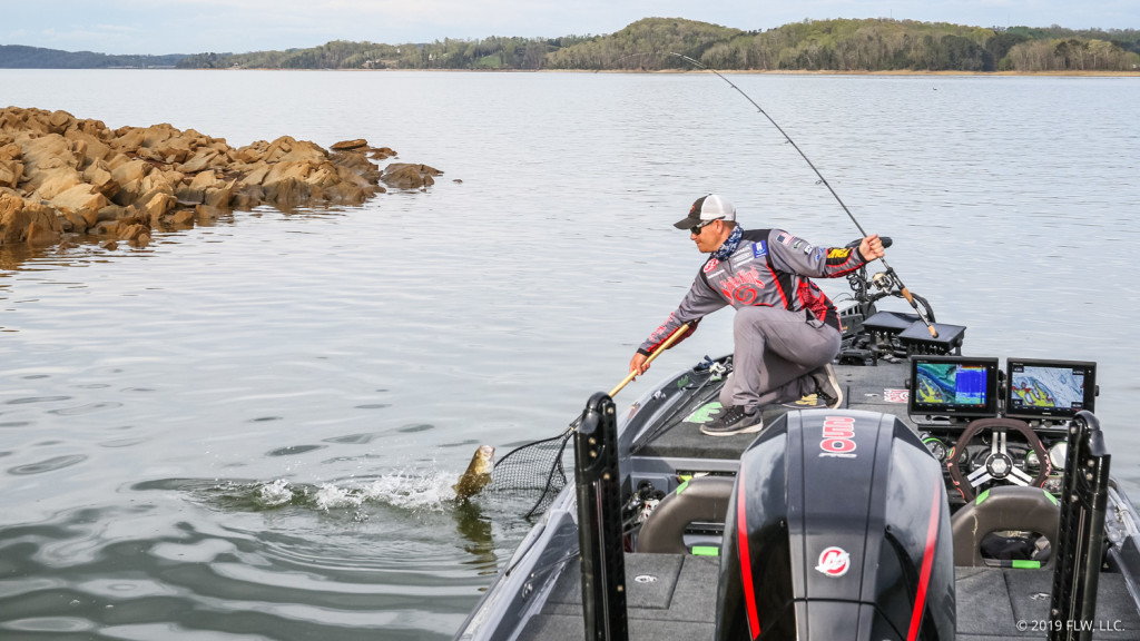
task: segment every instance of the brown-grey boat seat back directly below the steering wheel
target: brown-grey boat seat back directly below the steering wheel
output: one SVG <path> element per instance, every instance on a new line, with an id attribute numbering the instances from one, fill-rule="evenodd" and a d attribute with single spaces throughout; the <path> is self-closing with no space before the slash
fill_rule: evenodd
<path id="1" fill-rule="evenodd" d="M 1060 508 L 1051 494 L 1040 487 L 996 486 L 984 492 L 954 513 L 950 528 L 954 536 L 955 566 L 986 566 L 979 549 L 982 539 L 1002 530 L 1035 532 L 1057 550 Z M 1051 566 L 1053 555 L 1041 567 Z"/>

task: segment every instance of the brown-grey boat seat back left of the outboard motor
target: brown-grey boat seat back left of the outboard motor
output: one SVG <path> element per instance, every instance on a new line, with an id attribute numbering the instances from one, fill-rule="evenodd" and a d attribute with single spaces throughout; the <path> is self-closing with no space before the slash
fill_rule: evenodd
<path id="1" fill-rule="evenodd" d="M 697 477 L 677 486 L 642 524 L 637 552 L 689 554 L 685 528 L 695 521 L 723 524 L 735 477 Z"/>

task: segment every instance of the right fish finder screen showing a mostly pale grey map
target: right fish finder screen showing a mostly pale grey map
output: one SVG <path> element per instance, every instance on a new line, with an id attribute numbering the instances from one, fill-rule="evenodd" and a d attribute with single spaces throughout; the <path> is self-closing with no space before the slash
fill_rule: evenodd
<path id="1" fill-rule="evenodd" d="M 1094 363 L 1009 359 L 1005 414 L 1025 419 L 1075 416 L 1093 408 Z"/>

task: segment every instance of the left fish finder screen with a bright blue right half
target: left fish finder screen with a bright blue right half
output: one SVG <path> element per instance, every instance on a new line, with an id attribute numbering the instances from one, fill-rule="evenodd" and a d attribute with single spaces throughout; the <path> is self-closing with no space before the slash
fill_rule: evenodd
<path id="1" fill-rule="evenodd" d="M 997 359 L 914 357 L 911 360 L 911 414 L 997 415 Z"/>

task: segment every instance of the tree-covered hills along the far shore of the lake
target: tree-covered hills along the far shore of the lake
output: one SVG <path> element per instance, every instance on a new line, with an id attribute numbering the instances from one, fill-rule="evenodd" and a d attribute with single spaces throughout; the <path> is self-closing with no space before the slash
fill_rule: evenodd
<path id="1" fill-rule="evenodd" d="M 1140 30 L 978 27 L 895 19 L 804 21 L 742 31 L 682 18 L 645 18 L 605 35 L 490 36 L 381 44 L 336 40 L 307 49 L 192 56 L 106 56 L 0 46 L 0 67 L 80 68 L 690 68 L 1140 73 Z"/>

